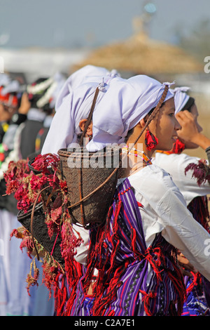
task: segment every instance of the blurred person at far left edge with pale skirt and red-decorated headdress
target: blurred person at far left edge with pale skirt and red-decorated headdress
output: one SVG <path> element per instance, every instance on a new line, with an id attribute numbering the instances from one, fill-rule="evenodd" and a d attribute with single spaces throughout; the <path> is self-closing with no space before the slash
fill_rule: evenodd
<path id="1" fill-rule="evenodd" d="M 0 256 L 0 315 L 8 315 L 11 310 L 14 314 L 17 312 L 16 315 L 27 314 L 27 295 L 18 293 L 23 286 L 21 277 L 27 274 L 27 260 L 18 247 L 20 242 L 10 242 L 10 232 L 17 226 L 17 204 L 13 196 L 3 196 L 6 192 L 3 171 L 7 169 L 9 161 L 18 160 L 18 154 L 13 152 L 15 134 L 19 124 L 26 120 L 28 110 L 29 103 L 26 95 L 20 93 L 18 81 L 10 79 L 8 74 L 0 74 L 0 238 L 3 242 Z M 17 263 L 20 263 L 18 267 Z"/>

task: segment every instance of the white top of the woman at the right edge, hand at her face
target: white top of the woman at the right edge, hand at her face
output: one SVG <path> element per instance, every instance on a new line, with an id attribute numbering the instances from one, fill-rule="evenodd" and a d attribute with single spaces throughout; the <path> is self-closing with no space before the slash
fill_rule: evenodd
<path id="1" fill-rule="evenodd" d="M 190 163 L 197 164 L 199 159 L 198 157 L 190 157 L 188 154 L 163 154 L 162 152 L 156 152 L 155 157 L 152 159 L 153 164 L 170 173 L 175 185 L 179 187 L 183 194 L 187 205 L 197 196 L 210 194 L 208 182 L 199 186 L 197 180 L 192 178 L 193 171 L 188 171 L 185 174 L 186 167 Z"/>

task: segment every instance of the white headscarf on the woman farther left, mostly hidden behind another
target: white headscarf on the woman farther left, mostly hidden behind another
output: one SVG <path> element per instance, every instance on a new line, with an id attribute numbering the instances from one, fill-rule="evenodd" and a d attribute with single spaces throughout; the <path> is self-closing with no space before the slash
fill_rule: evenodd
<path id="1" fill-rule="evenodd" d="M 86 65 L 71 74 L 57 97 L 56 113 L 45 139 L 42 154 L 48 152 L 57 154 L 59 149 L 78 143 L 78 134 L 81 133 L 79 123 L 81 119 L 88 117 L 96 88 L 103 89 L 104 84 L 108 84 L 117 76 L 116 70 L 109 72 L 104 67 L 92 65 Z M 98 100 L 102 95 L 99 95 Z"/>

